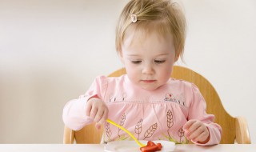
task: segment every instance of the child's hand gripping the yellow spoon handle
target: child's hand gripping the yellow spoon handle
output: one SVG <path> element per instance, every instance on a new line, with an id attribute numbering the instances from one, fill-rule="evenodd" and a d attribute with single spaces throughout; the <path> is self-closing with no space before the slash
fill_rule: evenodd
<path id="1" fill-rule="evenodd" d="M 99 98 L 90 98 L 86 103 L 86 115 L 94 119 L 97 129 L 100 129 L 101 125 L 106 122 L 108 112 L 105 102 Z"/>

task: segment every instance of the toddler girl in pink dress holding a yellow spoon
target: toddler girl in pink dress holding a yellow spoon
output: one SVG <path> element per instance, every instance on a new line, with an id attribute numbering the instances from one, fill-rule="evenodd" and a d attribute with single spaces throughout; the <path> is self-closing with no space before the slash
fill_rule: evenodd
<path id="1" fill-rule="evenodd" d="M 66 103 L 63 121 L 72 130 L 96 122 L 105 125 L 104 142 L 130 140 L 106 122 L 110 118 L 139 140 L 214 145 L 222 128 L 206 114 L 197 86 L 170 78 L 182 57 L 186 21 L 177 3 L 131 0 L 116 29 L 116 50 L 126 68 L 118 78 L 95 78 L 80 98 Z"/>

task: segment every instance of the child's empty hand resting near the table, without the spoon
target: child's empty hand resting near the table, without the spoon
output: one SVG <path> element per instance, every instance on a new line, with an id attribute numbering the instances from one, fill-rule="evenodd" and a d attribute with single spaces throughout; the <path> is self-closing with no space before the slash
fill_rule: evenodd
<path id="1" fill-rule="evenodd" d="M 183 126 L 183 130 L 185 130 L 186 138 L 193 142 L 204 144 L 210 139 L 209 130 L 206 125 L 198 120 L 189 120 Z"/>

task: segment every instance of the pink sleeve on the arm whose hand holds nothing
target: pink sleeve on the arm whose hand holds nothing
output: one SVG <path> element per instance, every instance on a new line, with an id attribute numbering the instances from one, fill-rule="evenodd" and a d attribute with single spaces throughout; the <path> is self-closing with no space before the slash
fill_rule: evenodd
<path id="1" fill-rule="evenodd" d="M 192 96 L 188 119 L 198 119 L 204 122 L 210 133 L 210 140 L 205 144 L 194 142 L 197 145 L 210 146 L 218 144 L 222 137 L 222 127 L 214 123 L 214 115 L 206 114 L 206 102 L 197 86 L 192 85 Z M 192 141 L 193 142 L 193 141 Z"/>

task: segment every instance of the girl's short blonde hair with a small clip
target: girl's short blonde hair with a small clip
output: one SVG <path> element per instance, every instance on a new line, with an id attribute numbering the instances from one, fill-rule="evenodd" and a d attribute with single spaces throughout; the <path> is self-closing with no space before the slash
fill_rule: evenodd
<path id="1" fill-rule="evenodd" d="M 153 25 L 153 29 L 152 26 Z M 122 53 L 127 30 L 158 31 L 172 34 L 176 57 L 183 56 L 186 39 L 186 19 L 182 9 L 171 0 L 131 0 L 120 14 L 116 28 L 116 50 Z M 150 29 L 151 28 L 151 29 Z"/>

